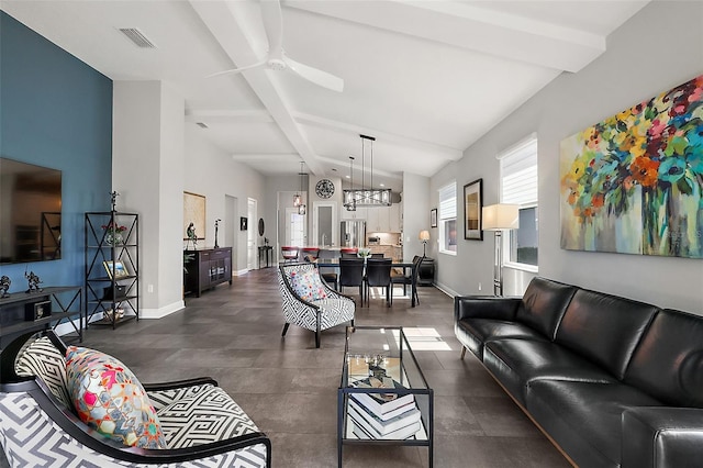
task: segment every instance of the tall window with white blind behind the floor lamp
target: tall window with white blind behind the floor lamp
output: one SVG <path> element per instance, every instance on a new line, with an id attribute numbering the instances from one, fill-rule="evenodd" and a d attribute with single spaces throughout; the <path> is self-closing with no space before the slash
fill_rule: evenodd
<path id="1" fill-rule="evenodd" d="M 537 138 L 531 136 L 499 156 L 501 202 L 520 205 L 520 229 L 510 232 L 506 263 L 533 269 L 538 265 Z"/>

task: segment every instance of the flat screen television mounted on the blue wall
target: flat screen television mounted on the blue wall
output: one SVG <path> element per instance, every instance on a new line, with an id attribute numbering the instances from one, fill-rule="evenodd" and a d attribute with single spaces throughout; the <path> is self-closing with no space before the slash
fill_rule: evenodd
<path id="1" fill-rule="evenodd" d="M 0 264 L 62 257 L 62 171 L 0 157 Z"/>

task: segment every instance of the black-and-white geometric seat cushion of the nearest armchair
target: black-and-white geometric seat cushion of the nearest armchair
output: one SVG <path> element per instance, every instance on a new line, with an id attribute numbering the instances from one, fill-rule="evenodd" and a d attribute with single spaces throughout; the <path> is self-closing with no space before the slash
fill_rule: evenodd
<path id="1" fill-rule="evenodd" d="M 168 448 L 210 444 L 259 431 L 224 390 L 212 386 L 161 408 L 158 417 Z"/>

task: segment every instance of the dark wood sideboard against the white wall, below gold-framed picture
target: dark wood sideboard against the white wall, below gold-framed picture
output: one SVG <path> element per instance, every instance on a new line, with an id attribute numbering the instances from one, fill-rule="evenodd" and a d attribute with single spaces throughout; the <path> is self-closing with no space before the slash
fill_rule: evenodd
<path id="1" fill-rule="evenodd" d="M 186 294 L 200 294 L 205 289 L 223 282 L 232 285 L 232 247 L 186 250 L 193 254 L 183 267 L 183 288 Z"/>

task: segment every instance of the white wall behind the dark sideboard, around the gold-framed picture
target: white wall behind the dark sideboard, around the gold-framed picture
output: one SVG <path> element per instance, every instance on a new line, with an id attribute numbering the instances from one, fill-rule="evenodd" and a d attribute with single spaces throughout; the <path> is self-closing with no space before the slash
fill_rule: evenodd
<path id="1" fill-rule="evenodd" d="M 205 239 L 199 241 L 198 248 L 212 248 L 214 246 L 215 220 L 232 220 L 232 215 L 227 216 L 226 213 L 226 196 L 237 199 L 238 216 L 247 215 L 248 198 L 257 200 L 257 220 L 252 220 L 248 229 L 257 229 L 258 218 L 264 214 L 261 207 L 266 205 L 264 177 L 248 166 L 233 160 L 228 154 L 203 140 L 200 133 L 207 131 L 207 129 L 201 129 L 194 123 L 186 124 L 183 190 L 205 197 Z M 182 213 L 182 193 L 180 210 Z M 238 233 L 236 245 L 232 246 L 232 256 L 236 261 L 232 269 L 242 272 L 247 268 L 247 232 L 239 231 L 238 216 L 232 220 L 233 223 L 236 223 L 234 231 Z M 223 223 L 224 221 L 220 223 L 219 229 L 220 246 L 228 245 L 228 242 L 224 244 L 224 235 L 228 227 Z M 269 233 L 267 223 L 267 237 Z"/>

